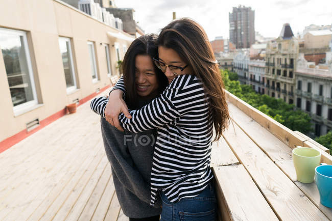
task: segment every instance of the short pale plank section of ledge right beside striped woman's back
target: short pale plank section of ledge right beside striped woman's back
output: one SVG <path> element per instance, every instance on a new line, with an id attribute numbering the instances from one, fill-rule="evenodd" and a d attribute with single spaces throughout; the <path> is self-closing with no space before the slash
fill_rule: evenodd
<path id="1" fill-rule="evenodd" d="M 211 149 L 211 167 L 218 167 L 220 165 L 239 164 L 234 153 L 229 148 L 223 137 L 218 142 L 212 143 Z"/>

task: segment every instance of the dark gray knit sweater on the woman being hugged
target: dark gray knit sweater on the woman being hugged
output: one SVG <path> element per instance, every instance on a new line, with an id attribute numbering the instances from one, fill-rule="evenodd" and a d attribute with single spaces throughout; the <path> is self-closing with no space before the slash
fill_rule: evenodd
<path id="1" fill-rule="evenodd" d="M 150 176 L 155 130 L 122 132 L 101 118 L 105 151 L 112 168 L 116 195 L 125 215 L 144 218 L 161 213 L 161 202 L 150 206 Z"/>

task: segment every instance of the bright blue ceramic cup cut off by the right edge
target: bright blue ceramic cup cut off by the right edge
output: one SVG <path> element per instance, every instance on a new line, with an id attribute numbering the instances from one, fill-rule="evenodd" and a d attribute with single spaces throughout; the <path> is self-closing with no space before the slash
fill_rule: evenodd
<path id="1" fill-rule="evenodd" d="M 315 179 L 319 191 L 320 203 L 332 208 L 332 165 L 321 163 L 315 168 Z"/>

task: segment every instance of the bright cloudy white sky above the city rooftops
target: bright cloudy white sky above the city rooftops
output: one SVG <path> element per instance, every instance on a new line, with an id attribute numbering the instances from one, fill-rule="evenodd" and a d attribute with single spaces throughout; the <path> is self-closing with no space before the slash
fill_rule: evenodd
<path id="1" fill-rule="evenodd" d="M 278 37 L 282 25 L 290 23 L 295 36 L 310 24 L 332 24 L 330 0 L 115 0 L 118 8 L 133 8 L 135 20 L 145 33 L 159 33 L 173 18 L 189 17 L 200 23 L 209 40 L 229 38 L 228 13 L 244 5 L 255 11 L 255 32 Z"/>

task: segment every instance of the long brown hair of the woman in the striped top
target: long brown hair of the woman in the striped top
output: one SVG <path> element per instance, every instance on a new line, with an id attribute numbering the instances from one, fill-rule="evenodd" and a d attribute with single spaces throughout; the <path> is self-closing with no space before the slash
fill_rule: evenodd
<path id="1" fill-rule="evenodd" d="M 209 112 L 217 141 L 230 121 L 224 82 L 203 27 L 188 18 L 174 20 L 161 30 L 158 45 L 175 50 L 192 68 L 192 74 L 202 80 L 210 98 Z"/>

